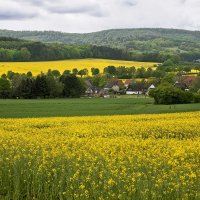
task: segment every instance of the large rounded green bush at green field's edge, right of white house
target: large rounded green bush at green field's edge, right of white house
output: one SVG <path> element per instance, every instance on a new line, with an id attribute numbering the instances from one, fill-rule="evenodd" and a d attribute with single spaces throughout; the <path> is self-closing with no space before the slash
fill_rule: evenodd
<path id="1" fill-rule="evenodd" d="M 149 92 L 156 104 L 182 104 L 191 103 L 193 94 L 182 91 L 170 84 L 163 84 Z"/>

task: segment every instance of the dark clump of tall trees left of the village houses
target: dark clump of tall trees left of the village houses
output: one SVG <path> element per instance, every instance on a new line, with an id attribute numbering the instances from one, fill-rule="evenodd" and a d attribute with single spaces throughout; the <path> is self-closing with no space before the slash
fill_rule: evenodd
<path id="1" fill-rule="evenodd" d="M 0 78 L 0 98 L 78 98 L 85 91 L 82 80 L 74 74 L 62 75 L 49 70 L 34 77 L 31 72 L 9 71 Z"/>

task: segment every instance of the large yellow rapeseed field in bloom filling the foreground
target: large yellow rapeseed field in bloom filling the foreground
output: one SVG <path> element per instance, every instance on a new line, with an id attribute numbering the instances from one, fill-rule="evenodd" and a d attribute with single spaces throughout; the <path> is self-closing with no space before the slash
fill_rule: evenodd
<path id="1" fill-rule="evenodd" d="M 200 199 L 200 112 L 0 119 L 0 199 Z"/>

